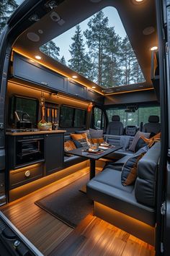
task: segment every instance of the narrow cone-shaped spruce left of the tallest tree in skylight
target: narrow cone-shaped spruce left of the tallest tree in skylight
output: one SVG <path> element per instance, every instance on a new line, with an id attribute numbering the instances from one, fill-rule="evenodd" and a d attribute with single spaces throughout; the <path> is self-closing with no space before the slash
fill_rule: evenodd
<path id="1" fill-rule="evenodd" d="M 80 25 L 76 25 L 76 31 L 71 38 L 73 43 L 70 46 L 71 59 L 68 60 L 69 67 L 79 74 L 88 76 L 89 58 L 85 54 L 85 47 L 83 43 L 83 35 L 81 33 Z"/>

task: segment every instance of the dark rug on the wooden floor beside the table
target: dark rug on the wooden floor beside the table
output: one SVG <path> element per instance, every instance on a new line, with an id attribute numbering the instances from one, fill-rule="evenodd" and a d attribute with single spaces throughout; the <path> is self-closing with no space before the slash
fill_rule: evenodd
<path id="1" fill-rule="evenodd" d="M 76 228 L 94 210 L 93 202 L 86 194 L 79 191 L 87 182 L 89 182 L 89 174 L 37 200 L 35 204 L 68 226 Z"/>

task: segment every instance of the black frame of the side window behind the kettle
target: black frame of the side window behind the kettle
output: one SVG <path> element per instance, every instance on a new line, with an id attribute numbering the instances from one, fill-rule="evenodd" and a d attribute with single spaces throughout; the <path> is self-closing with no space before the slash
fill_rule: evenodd
<path id="1" fill-rule="evenodd" d="M 40 103 L 39 103 L 38 99 L 28 97 L 28 96 L 24 96 L 24 95 L 18 95 L 18 94 L 12 94 L 10 99 L 9 99 L 9 124 L 11 124 L 11 125 L 15 124 L 14 112 L 13 112 L 13 115 L 11 113 L 12 112 L 12 97 L 14 97 L 14 111 L 16 111 L 17 98 L 27 99 L 27 100 L 31 100 L 31 101 L 36 102 L 36 110 L 35 110 L 35 119 L 36 120 L 35 120 L 35 123 L 32 122 L 32 127 L 37 127 L 39 106 L 40 106 Z M 11 118 L 11 116 L 13 116 L 13 118 Z"/>

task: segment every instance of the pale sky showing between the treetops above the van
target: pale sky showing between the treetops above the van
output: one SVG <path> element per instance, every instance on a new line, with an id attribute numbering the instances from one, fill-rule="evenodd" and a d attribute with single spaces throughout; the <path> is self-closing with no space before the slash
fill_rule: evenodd
<path id="1" fill-rule="evenodd" d="M 16 0 L 16 1 L 17 1 L 17 4 L 21 4 L 23 0 Z M 117 12 L 117 9 L 115 9 L 114 7 L 106 7 L 103 9 L 103 12 L 104 12 L 104 15 L 109 18 L 109 26 L 115 27 L 115 32 L 118 35 L 120 35 L 120 37 L 124 38 L 126 33 L 122 25 L 122 22 L 120 20 L 120 16 Z M 89 22 L 89 20 L 90 20 L 90 17 L 89 19 L 86 19 L 80 23 L 82 31 L 88 28 L 87 23 Z M 68 61 L 68 59 L 71 59 L 71 55 L 68 49 L 72 43 L 71 38 L 73 37 L 74 33 L 75 33 L 75 27 L 72 27 L 66 33 L 63 33 L 59 35 L 57 38 L 53 39 L 56 45 L 60 48 L 60 57 L 65 56 L 66 61 Z"/>

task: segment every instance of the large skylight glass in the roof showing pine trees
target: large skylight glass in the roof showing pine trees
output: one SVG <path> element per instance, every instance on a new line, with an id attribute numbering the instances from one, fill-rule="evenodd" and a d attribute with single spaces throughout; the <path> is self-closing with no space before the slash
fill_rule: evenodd
<path id="1" fill-rule="evenodd" d="M 114 7 L 102 9 L 40 50 L 102 88 L 145 81 Z"/>

